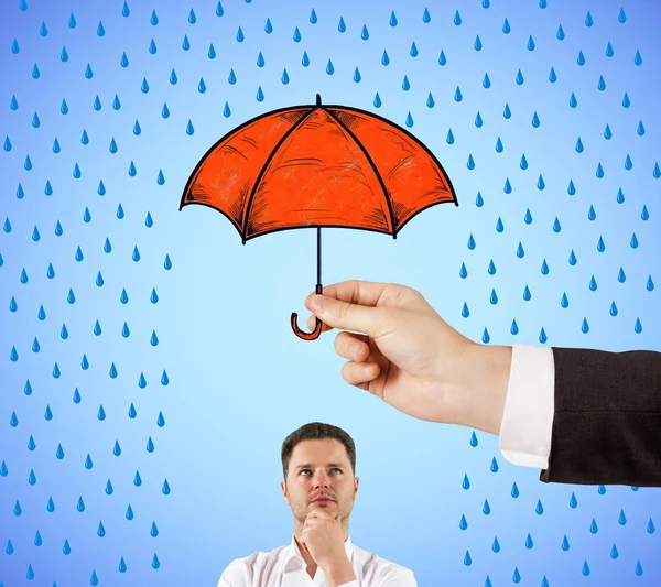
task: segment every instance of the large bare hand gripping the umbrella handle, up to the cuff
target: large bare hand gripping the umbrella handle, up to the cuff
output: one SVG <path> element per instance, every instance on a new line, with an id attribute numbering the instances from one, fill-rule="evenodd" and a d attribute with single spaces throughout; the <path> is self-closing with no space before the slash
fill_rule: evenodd
<path id="1" fill-rule="evenodd" d="M 351 385 L 420 420 L 500 433 L 511 347 L 473 343 L 404 285 L 345 281 L 310 294 L 305 306 L 323 331 L 365 333 L 335 339 Z"/>

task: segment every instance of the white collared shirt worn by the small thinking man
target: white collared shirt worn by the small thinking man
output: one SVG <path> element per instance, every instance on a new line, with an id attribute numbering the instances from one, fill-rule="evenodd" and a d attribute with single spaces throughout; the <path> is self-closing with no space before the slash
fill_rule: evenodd
<path id="1" fill-rule="evenodd" d="M 345 541 L 345 552 L 356 580 L 342 587 L 418 587 L 413 572 L 355 546 L 350 536 Z M 310 578 L 306 567 L 292 537 L 286 546 L 232 561 L 224 570 L 218 587 L 325 587 L 326 577 L 321 567 L 314 579 Z"/>

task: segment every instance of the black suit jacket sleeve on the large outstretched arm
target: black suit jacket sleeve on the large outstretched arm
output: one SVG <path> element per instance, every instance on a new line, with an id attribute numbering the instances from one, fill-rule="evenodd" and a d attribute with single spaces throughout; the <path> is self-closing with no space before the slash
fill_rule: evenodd
<path id="1" fill-rule="evenodd" d="M 661 352 L 552 348 L 556 483 L 661 487 Z"/>

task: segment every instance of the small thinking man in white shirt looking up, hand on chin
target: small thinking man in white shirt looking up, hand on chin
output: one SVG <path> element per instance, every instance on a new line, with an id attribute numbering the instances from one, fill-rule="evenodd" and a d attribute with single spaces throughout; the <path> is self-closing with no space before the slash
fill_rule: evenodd
<path id="1" fill-rule="evenodd" d="M 416 587 L 413 573 L 351 543 L 356 446 L 313 422 L 282 443 L 280 483 L 294 517 L 291 544 L 232 561 L 218 587 Z"/>

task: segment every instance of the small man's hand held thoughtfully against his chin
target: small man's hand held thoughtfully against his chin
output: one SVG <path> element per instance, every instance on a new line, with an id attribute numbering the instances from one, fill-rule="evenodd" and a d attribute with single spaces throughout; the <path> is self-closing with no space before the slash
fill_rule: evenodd
<path id="1" fill-rule="evenodd" d="M 324 572 L 329 587 L 356 579 L 345 552 L 339 515 L 333 517 L 321 509 L 311 511 L 303 524 L 301 542 Z"/>

